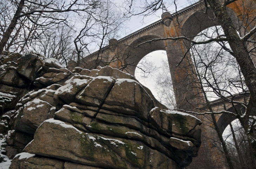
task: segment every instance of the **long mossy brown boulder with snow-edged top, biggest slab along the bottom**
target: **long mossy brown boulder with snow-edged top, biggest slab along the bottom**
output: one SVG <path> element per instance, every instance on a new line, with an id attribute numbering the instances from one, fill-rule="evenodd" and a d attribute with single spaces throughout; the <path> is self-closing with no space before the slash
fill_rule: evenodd
<path id="1" fill-rule="evenodd" d="M 103 168 L 149 168 L 162 162 L 161 165 L 168 167 L 172 164 L 173 168 L 179 168 L 165 155 L 148 148 L 142 142 L 83 133 L 53 119 L 43 122 L 34 135 L 34 141 L 24 151 Z M 154 158 L 150 162 L 151 153 L 161 158 Z"/>

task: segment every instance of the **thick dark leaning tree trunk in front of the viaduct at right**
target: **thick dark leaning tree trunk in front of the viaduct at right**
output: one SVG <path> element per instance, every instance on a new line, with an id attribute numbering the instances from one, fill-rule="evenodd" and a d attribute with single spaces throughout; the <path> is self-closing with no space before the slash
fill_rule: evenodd
<path id="1" fill-rule="evenodd" d="M 218 18 L 218 22 L 228 39 L 231 50 L 234 52 L 234 57 L 238 65 L 241 68 L 241 72 L 244 76 L 245 83 L 250 91 L 254 105 L 256 103 L 256 68 L 248 53 L 245 43 L 241 40 L 235 26 L 230 19 L 226 7 L 223 6 L 219 0 L 207 0 L 212 8 L 215 16 Z M 256 157 L 256 141 L 251 135 L 248 136 L 248 141 L 252 145 L 254 156 Z"/>

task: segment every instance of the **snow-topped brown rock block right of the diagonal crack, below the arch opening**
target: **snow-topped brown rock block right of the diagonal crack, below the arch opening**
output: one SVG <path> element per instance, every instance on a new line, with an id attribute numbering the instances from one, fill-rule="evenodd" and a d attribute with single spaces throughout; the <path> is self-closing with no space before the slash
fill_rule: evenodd
<path id="1" fill-rule="evenodd" d="M 102 108 L 147 120 L 149 111 L 154 108 L 154 103 L 137 81 L 117 79 Z"/>

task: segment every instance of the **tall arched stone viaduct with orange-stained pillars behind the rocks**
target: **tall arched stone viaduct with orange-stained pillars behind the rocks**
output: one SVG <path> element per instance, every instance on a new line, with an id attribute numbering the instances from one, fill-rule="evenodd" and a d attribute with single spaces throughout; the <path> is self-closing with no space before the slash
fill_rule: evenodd
<path id="1" fill-rule="evenodd" d="M 234 21 L 240 35 L 244 35 L 251 29 L 248 27 L 247 30 L 245 30 L 243 26 L 245 25 L 245 21 L 243 20 L 244 8 L 241 4 L 245 3 L 250 4 L 250 6 L 256 5 L 255 0 L 238 0 L 227 7 L 228 13 Z M 190 43 L 182 39 L 170 40 L 166 38 L 186 36 L 193 39 L 193 36 L 196 36 L 204 29 L 219 25 L 213 12 L 207 10 L 206 13 L 205 11 L 206 7 L 204 1 L 198 1 L 177 13 L 170 14 L 165 12 L 162 14 L 161 20 L 147 27 L 119 40 L 110 39 L 108 46 L 81 59 L 80 67 L 93 69 L 95 65 L 109 65 L 134 75 L 136 65 L 144 56 L 153 51 L 165 50 L 167 52 L 178 108 L 193 110 L 191 105 L 202 107 L 205 102 L 202 99 L 202 93 L 196 83 L 197 77 L 191 75 L 194 67 L 190 64 L 191 57 L 189 52 L 187 52 Z M 254 15 L 255 14 L 256 12 Z M 186 55 L 186 57 L 184 57 L 184 55 Z M 180 63 L 182 58 L 183 61 Z M 256 60 L 255 58 L 252 59 Z M 176 66 L 178 63 L 180 63 L 180 65 Z M 69 67 L 72 68 L 74 66 L 70 64 Z M 223 104 L 222 102 L 220 103 L 220 101 L 215 101 L 213 106 L 215 110 L 223 110 Z M 231 108 L 229 105 L 227 105 L 227 107 Z M 205 121 L 203 134 L 210 138 L 208 145 L 212 154 L 216 158 L 220 158 L 221 153 L 216 146 L 221 147 L 221 145 L 215 144 L 218 139 L 215 131 L 210 127 L 212 126 L 211 122 L 203 116 L 199 118 Z M 216 116 L 218 126 L 222 128 L 222 132 L 228 125 L 227 118 L 226 115 Z M 229 118 L 233 120 L 233 117 Z"/>

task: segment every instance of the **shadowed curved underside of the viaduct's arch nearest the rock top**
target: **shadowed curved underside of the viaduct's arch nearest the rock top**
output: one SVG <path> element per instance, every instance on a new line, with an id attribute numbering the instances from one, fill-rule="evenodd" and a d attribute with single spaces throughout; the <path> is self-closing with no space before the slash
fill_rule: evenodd
<path id="1" fill-rule="evenodd" d="M 145 35 L 136 39 L 126 48 L 123 54 L 124 64 L 127 64 L 127 67 L 125 69 L 126 72 L 134 75 L 137 64 L 144 56 L 146 56 L 150 52 L 154 52 L 157 50 L 166 50 L 164 42 L 162 40 L 148 42 L 138 46 L 143 42 L 147 42 L 157 38 L 160 37 L 156 35 Z"/>

